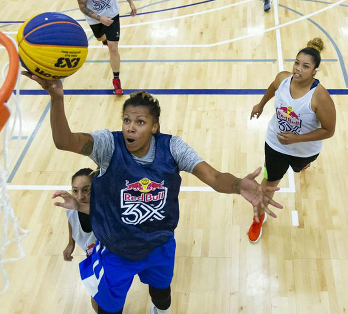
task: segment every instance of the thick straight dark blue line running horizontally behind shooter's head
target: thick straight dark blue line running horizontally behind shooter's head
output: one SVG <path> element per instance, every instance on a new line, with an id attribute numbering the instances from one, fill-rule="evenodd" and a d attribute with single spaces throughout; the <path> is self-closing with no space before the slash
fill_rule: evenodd
<path id="1" fill-rule="evenodd" d="M 211 88 L 211 89 L 124 89 L 125 95 L 147 91 L 156 95 L 262 95 L 266 89 L 231 89 L 231 88 Z M 348 89 L 327 89 L 331 95 L 348 95 Z M 64 89 L 64 95 L 113 95 L 113 89 Z M 21 89 L 21 95 L 48 95 L 43 89 Z"/>

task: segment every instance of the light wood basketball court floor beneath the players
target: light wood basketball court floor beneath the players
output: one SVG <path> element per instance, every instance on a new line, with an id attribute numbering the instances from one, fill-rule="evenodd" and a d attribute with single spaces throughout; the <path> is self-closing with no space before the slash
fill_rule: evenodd
<path id="1" fill-rule="evenodd" d="M 161 132 L 182 136 L 223 172 L 242 177 L 254 171 L 264 163 L 264 138 L 274 111 L 272 100 L 260 119 L 250 121 L 251 109 L 262 97 L 257 90 L 266 89 L 282 67 L 291 71 L 298 50 L 314 37 L 321 37 L 325 44 L 316 77 L 324 87 L 333 89 L 337 127 L 310 168 L 294 177 L 287 174 L 282 180 L 283 191 L 275 199 L 284 209 L 275 210 L 278 218 L 268 219 L 256 244 L 247 238 L 252 208 L 242 197 L 207 191 L 180 193 L 171 313 L 347 313 L 348 2 L 281 27 L 278 42 L 276 31 L 269 31 L 225 44 L 221 42 L 275 26 L 277 2 L 268 12 L 257 0 L 240 4 L 237 0 L 198 2 L 137 0 L 134 3 L 139 13 L 149 14 L 121 18 L 123 26 L 157 21 L 121 28 L 120 78 L 126 90 L 175 90 L 175 95 L 165 91 L 156 95 L 162 110 Z M 226 7 L 233 3 L 237 4 Z M 330 4 L 278 0 L 279 24 Z M 185 7 L 176 8 L 181 6 Z M 128 3 L 121 1 L 120 9 L 121 15 L 127 14 Z M 150 13 L 163 9 L 168 10 Z M 84 18 L 74 0 L 12 0 L 2 3 L 0 31 L 10 32 L 8 36 L 14 38 L 11 32 L 21 25 L 15 21 L 45 11 Z M 183 15 L 192 16 L 171 19 Z M 162 19 L 166 20 L 158 21 Z M 80 24 L 90 37 L 88 24 Z M 197 46 L 214 43 L 220 44 Z M 93 37 L 89 44 L 87 62 L 63 83 L 67 90 L 81 90 L 78 95 L 65 96 L 66 115 L 72 131 L 119 130 L 121 107 L 128 96 L 86 94 L 89 89 L 112 88 L 108 51 Z M 155 45 L 172 46 L 152 47 Z M 0 49 L 1 68 L 6 62 L 6 52 Z M 0 313 L 92 314 L 90 296 L 78 272 L 78 262 L 85 254 L 76 247 L 73 261 L 63 260 L 68 223 L 64 211 L 54 207 L 49 187 L 68 186 L 74 172 L 82 167 L 95 168 L 95 164 L 87 157 L 54 147 L 49 96 L 33 95 L 39 88 L 25 77 L 21 89 L 31 92 L 21 96 L 23 139 L 9 171 L 8 187 L 23 186 L 9 190 L 9 195 L 20 225 L 29 235 L 23 240 L 26 257 L 4 265 L 10 287 L 0 295 Z M 193 95 L 184 89 L 214 92 Z M 236 89 L 240 94 L 218 94 L 221 89 Z M 10 151 L 14 146 L 15 140 Z M 204 186 L 193 175 L 181 175 L 183 187 Z M 261 175 L 258 179 L 261 181 Z M 298 213 L 298 226 L 294 226 L 293 211 Z M 15 253 L 15 245 L 7 249 L 8 255 Z M 149 313 L 150 303 L 147 286 L 136 277 L 124 313 Z"/>

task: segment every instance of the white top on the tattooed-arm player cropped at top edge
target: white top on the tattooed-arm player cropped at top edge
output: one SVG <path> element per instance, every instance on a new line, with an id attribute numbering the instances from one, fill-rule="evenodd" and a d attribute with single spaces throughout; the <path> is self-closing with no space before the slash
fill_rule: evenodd
<path id="1" fill-rule="evenodd" d="M 120 6 L 117 0 L 87 0 L 86 6 L 95 14 L 114 18 L 120 13 Z M 100 21 L 85 15 L 86 21 L 89 25 L 99 24 Z"/>

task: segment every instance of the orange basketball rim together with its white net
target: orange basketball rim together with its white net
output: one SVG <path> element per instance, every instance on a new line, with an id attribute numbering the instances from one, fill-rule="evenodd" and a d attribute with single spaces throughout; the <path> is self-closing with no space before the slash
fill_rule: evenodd
<path id="1" fill-rule="evenodd" d="M 3 129 L 3 147 L 0 147 L 0 157 L 2 156 L 3 162 L 0 160 L 0 217 L 2 218 L 2 235 L 0 234 L 0 271 L 3 276 L 4 284 L 0 294 L 5 292 L 9 287 L 8 276 L 5 272 L 3 265 L 6 262 L 14 262 L 24 257 L 24 250 L 21 245 L 21 239 L 28 233 L 27 230 L 18 226 L 18 219 L 15 217 L 13 208 L 11 207 L 10 197 L 7 193 L 6 181 L 7 172 L 12 164 L 14 157 L 19 148 L 19 140 L 22 133 L 22 119 L 21 112 L 19 110 L 19 60 L 18 49 L 16 42 L 0 32 L 0 44 L 3 45 L 9 55 L 9 63 L 2 69 L 2 78 L 5 81 L 0 89 L 0 131 Z M 7 75 L 5 77 L 6 70 Z M 16 87 L 16 92 L 14 88 Z M 14 106 L 10 106 L 10 102 Z M 13 108 L 14 107 L 14 108 Z M 10 118 L 11 116 L 11 118 Z M 9 157 L 9 140 L 11 139 L 15 126 L 19 122 L 19 136 L 16 144 L 15 151 L 12 156 Z M 12 123 L 11 129 L 9 129 L 9 123 Z M 11 235 L 11 237 L 9 237 Z M 16 257 L 5 258 L 6 247 L 15 242 L 17 244 L 18 253 Z"/>

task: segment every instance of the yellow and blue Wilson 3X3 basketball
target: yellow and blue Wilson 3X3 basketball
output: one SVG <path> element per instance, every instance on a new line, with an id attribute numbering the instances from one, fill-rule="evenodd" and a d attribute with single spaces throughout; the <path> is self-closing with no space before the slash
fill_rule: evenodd
<path id="1" fill-rule="evenodd" d="M 47 12 L 27 19 L 17 34 L 19 60 L 44 79 L 61 79 L 85 62 L 88 40 L 81 25 L 62 13 Z"/>

